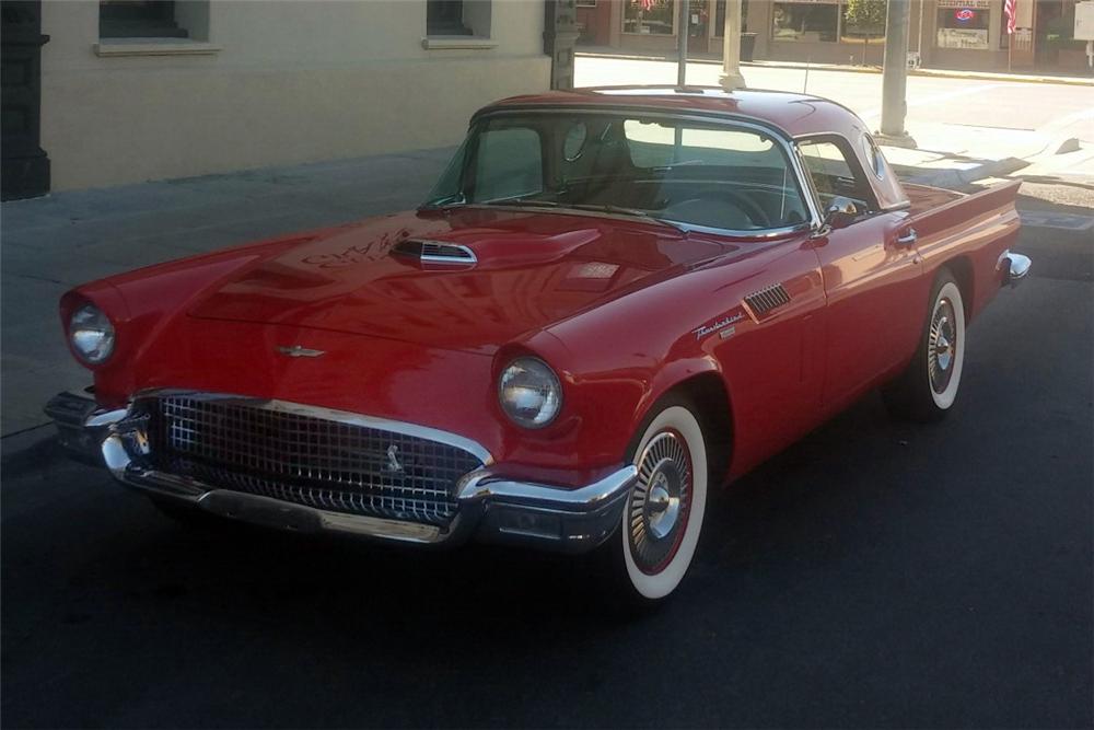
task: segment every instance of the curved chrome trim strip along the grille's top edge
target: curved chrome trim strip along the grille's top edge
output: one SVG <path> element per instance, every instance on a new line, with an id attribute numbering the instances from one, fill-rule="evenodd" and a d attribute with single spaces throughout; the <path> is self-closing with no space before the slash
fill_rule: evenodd
<path id="1" fill-rule="evenodd" d="M 418 424 L 408 424 L 388 418 L 380 418 L 377 416 L 364 416 L 361 414 L 350 413 L 348 410 L 336 410 L 334 408 L 324 408 L 322 406 L 302 405 L 299 403 L 290 403 L 288 401 L 278 401 L 276 398 L 256 398 L 247 395 L 205 393 L 200 391 L 179 389 L 149 389 L 136 393 L 132 398 L 130 398 L 130 405 L 132 402 L 141 398 L 168 396 L 185 396 L 194 398 L 195 401 L 226 401 L 231 404 L 245 405 L 252 408 L 260 408 L 263 410 L 275 410 L 295 414 L 299 416 L 310 416 L 313 418 L 322 418 L 351 426 L 362 426 L 365 428 L 393 431 L 395 433 L 404 433 L 406 436 L 429 439 L 430 441 L 440 441 L 441 443 L 446 443 L 451 447 L 462 449 L 463 451 L 474 455 L 487 466 L 493 463 L 493 455 L 491 455 L 490 452 L 487 451 L 480 443 L 457 433 L 442 431 L 441 429 L 430 428 L 428 426 L 419 426 Z"/>

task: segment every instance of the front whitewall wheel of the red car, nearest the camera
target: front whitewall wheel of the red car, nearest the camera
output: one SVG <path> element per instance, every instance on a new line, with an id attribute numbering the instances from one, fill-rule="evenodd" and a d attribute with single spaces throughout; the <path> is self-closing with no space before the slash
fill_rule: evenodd
<path id="1" fill-rule="evenodd" d="M 666 405 L 635 452 L 638 482 L 619 532 L 600 549 L 622 603 L 652 606 L 666 599 L 691 565 L 707 507 L 707 447 L 691 408 Z"/>

